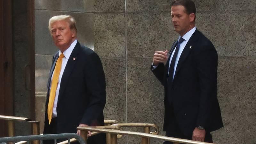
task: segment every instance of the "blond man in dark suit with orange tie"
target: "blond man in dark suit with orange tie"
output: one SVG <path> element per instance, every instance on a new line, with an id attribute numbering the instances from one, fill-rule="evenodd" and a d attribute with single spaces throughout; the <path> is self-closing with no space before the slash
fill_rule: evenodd
<path id="1" fill-rule="evenodd" d="M 99 56 L 76 40 L 73 17 L 52 17 L 49 30 L 60 50 L 53 57 L 48 80 L 44 134 L 71 132 L 80 135 L 76 130 L 78 126 L 104 125 L 106 84 Z M 104 144 L 105 141 L 102 133 L 89 137 L 87 142 Z"/>

